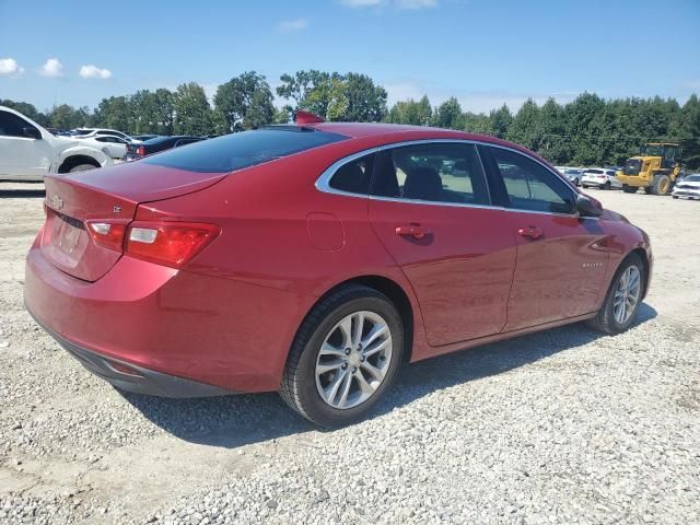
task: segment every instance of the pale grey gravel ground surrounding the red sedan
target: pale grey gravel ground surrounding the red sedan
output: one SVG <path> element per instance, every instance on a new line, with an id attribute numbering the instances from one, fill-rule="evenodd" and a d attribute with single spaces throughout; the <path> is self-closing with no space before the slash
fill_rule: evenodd
<path id="1" fill-rule="evenodd" d="M 324 432 L 276 394 L 155 399 L 84 371 L 22 307 L 40 189 L 0 184 L 0 523 L 700 522 L 700 202 L 591 190 L 652 237 L 628 332 L 406 365 Z"/>

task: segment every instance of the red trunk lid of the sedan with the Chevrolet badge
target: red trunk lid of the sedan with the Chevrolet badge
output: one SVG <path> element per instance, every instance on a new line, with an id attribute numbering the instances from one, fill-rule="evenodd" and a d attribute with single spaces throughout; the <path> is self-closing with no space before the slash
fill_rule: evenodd
<path id="1" fill-rule="evenodd" d="M 42 253 L 66 273 L 96 281 L 121 254 L 96 245 L 86 221 L 129 222 L 139 203 L 198 191 L 223 177 L 141 163 L 47 176 Z"/>

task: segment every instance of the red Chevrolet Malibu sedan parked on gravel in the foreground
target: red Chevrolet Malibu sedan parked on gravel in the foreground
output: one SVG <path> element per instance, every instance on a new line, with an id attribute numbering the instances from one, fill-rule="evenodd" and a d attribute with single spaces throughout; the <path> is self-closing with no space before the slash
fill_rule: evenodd
<path id="1" fill-rule="evenodd" d="M 48 176 L 26 307 L 125 390 L 279 390 L 327 427 L 365 416 L 404 360 L 633 323 L 648 236 L 536 154 L 317 120 Z"/>

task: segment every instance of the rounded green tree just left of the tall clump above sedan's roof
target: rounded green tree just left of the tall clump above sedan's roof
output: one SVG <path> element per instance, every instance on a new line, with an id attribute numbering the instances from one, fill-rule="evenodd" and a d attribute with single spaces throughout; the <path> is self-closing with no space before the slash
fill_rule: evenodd
<path id="1" fill-rule="evenodd" d="M 272 92 L 265 77 L 246 71 L 221 84 L 214 95 L 215 110 L 225 120 L 226 132 L 253 129 L 272 122 Z"/>

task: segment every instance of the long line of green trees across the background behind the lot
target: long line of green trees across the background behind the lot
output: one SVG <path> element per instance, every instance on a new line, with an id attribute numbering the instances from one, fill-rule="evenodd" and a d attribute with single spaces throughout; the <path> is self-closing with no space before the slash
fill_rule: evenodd
<path id="1" fill-rule="evenodd" d="M 82 126 L 159 135 L 223 135 L 293 120 L 298 109 L 329 121 L 386 121 L 436 126 L 491 135 L 536 151 L 553 164 L 620 165 L 645 141 L 678 141 L 685 162 L 700 167 L 700 100 L 680 105 L 674 98 L 605 100 L 583 93 L 567 104 L 527 100 L 515 113 L 504 104 L 490 113 L 464 109 L 452 97 L 438 106 L 428 96 L 387 107 L 386 90 L 366 74 L 307 70 L 283 74 L 275 90 L 285 102 L 275 105 L 267 79 L 247 71 L 218 86 L 210 103 L 202 85 L 184 83 L 174 91 L 140 90 L 103 98 L 91 110 L 67 104 L 38 112 L 24 102 L 0 101 L 38 124 L 59 129 Z"/>

